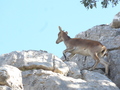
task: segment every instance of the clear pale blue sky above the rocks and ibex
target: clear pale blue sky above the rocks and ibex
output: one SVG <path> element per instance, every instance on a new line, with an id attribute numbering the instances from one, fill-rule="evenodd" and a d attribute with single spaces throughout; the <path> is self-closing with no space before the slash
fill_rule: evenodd
<path id="1" fill-rule="evenodd" d="M 0 0 L 0 55 L 12 51 L 45 50 L 61 57 L 58 26 L 74 38 L 93 26 L 109 24 L 120 4 L 86 9 L 80 0 Z"/>

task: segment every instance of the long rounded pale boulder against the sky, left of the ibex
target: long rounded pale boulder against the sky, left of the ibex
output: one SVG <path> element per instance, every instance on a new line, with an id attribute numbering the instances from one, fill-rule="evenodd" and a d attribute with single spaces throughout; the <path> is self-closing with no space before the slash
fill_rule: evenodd
<path id="1" fill-rule="evenodd" d="M 58 57 L 45 51 L 28 50 L 0 56 L 0 65 L 8 64 L 20 70 L 44 69 L 67 75 L 67 65 Z"/>

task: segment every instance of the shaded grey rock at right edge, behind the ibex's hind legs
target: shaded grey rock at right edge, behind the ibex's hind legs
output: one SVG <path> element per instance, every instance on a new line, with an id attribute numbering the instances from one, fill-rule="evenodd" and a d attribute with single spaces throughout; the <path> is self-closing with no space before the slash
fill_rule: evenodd
<path id="1" fill-rule="evenodd" d="M 110 79 L 120 88 L 120 50 L 110 52 Z"/>

